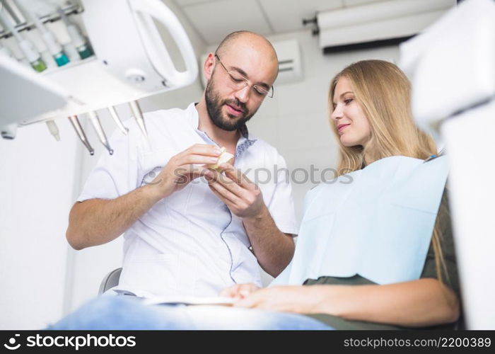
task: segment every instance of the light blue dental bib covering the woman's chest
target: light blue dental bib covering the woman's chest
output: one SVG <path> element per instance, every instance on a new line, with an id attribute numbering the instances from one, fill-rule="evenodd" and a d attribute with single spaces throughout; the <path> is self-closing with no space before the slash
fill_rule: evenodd
<path id="1" fill-rule="evenodd" d="M 445 156 L 391 156 L 313 188 L 294 257 L 270 286 L 356 274 L 380 285 L 419 279 L 447 174 Z"/>

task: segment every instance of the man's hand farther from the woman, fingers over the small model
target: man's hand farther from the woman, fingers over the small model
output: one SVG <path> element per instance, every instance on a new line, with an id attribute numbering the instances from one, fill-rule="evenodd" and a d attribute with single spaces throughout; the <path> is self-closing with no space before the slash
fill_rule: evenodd
<path id="1" fill-rule="evenodd" d="M 207 166 L 216 164 L 221 154 L 219 147 L 209 144 L 194 144 L 179 154 L 172 156 L 149 185 L 156 186 L 160 198 L 181 190 L 194 178 L 211 176 Z"/>

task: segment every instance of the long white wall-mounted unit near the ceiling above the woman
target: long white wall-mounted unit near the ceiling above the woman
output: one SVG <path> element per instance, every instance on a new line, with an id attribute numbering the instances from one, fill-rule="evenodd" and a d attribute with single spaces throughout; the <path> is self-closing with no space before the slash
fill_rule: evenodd
<path id="1" fill-rule="evenodd" d="M 455 0 L 389 0 L 317 13 L 325 54 L 395 45 L 420 33 Z"/>

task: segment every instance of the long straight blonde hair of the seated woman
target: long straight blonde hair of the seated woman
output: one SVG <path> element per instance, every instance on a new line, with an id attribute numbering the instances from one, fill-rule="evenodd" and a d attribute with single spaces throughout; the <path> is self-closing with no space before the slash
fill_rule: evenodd
<path id="1" fill-rule="evenodd" d="M 345 147 L 340 142 L 337 127 L 332 130 L 339 144 L 338 174 L 359 170 L 366 164 L 365 155 L 372 161 L 388 156 L 409 156 L 426 159 L 438 154 L 433 138 L 420 130 L 412 119 L 411 84 L 407 76 L 395 65 L 383 60 L 363 60 L 339 72 L 330 84 L 329 108 L 334 110 L 333 97 L 337 82 L 348 79 L 354 97 L 368 118 L 371 128 L 366 147 Z M 441 232 L 438 218 L 433 228 L 431 244 L 435 253 L 436 273 L 443 282 L 445 259 L 441 249 Z"/>

